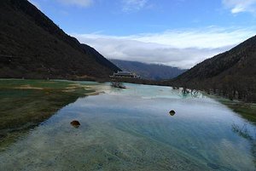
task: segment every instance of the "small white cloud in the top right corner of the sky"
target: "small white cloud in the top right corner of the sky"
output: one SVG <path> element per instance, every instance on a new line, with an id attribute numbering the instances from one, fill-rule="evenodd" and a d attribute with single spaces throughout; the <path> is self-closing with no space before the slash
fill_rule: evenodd
<path id="1" fill-rule="evenodd" d="M 256 13 L 256 0 L 222 0 L 222 2 L 226 8 L 230 9 L 232 14 Z"/>

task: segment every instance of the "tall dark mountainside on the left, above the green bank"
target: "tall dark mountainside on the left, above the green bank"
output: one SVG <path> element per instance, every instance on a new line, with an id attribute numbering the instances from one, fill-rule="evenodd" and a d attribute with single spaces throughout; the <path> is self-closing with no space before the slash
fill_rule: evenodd
<path id="1" fill-rule="evenodd" d="M 96 79 L 119 71 L 26 0 L 0 6 L 0 77 Z"/>

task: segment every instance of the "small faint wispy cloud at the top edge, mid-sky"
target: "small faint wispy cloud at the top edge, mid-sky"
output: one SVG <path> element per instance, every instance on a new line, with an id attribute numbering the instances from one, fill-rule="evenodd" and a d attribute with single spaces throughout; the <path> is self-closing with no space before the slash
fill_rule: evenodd
<path id="1" fill-rule="evenodd" d="M 131 12 L 146 7 L 148 0 L 123 0 L 123 11 Z"/>

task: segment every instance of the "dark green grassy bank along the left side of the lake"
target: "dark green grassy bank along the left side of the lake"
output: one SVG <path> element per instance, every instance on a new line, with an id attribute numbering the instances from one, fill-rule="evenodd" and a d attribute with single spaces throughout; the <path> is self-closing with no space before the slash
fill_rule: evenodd
<path id="1" fill-rule="evenodd" d="M 82 83 L 1 79 L 0 151 L 63 106 L 93 92 Z"/>

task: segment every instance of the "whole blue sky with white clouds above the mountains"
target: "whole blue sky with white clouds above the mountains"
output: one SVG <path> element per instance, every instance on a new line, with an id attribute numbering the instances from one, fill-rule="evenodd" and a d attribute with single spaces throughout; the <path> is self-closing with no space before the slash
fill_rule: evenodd
<path id="1" fill-rule="evenodd" d="M 29 0 L 108 59 L 189 69 L 256 35 L 256 0 Z"/>

